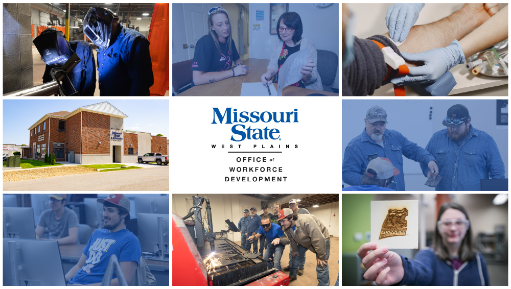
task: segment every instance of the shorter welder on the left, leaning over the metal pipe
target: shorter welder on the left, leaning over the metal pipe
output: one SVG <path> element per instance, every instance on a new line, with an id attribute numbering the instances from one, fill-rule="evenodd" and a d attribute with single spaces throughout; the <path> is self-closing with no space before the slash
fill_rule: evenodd
<path id="1" fill-rule="evenodd" d="M 81 61 L 67 73 L 67 77 L 80 95 L 94 95 L 96 90 L 96 63 L 89 43 L 82 40 L 67 41 L 62 31 L 53 27 L 45 29 L 32 42 L 34 42 L 42 60 L 46 63 L 42 83 L 52 81 L 51 69 L 61 67 L 69 57 L 76 53 Z M 62 82 L 62 85 L 65 86 L 66 83 Z M 65 90 L 72 91 L 71 88 L 65 88 Z"/>

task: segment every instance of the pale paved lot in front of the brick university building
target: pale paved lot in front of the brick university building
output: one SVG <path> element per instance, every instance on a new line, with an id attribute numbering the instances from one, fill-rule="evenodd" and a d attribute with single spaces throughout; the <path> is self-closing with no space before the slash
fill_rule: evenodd
<path id="1" fill-rule="evenodd" d="M 126 163 L 128 165 L 128 163 Z M 132 164 L 129 164 L 132 165 Z M 146 165 L 145 170 L 112 171 L 4 182 L 4 191 L 169 191 L 169 165 Z M 148 167 L 151 166 L 151 167 Z"/>

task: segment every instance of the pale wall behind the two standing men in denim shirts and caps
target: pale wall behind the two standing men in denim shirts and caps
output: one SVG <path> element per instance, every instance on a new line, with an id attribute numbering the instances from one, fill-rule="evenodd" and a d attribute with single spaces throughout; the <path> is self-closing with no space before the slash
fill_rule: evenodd
<path id="1" fill-rule="evenodd" d="M 347 144 L 362 133 L 365 113 L 372 106 L 381 106 L 387 112 L 387 129 L 397 130 L 408 140 L 426 148 L 433 133 L 447 128 L 442 121 L 447 110 L 455 104 L 466 106 L 472 117 L 471 125 L 494 138 L 508 178 L 508 130 L 497 129 L 496 100 L 343 100 L 341 153 L 344 154 Z M 432 111 L 431 120 L 429 111 Z M 422 175 L 419 163 L 403 157 L 403 171 L 406 190 L 434 190 L 424 185 L 426 177 Z"/>

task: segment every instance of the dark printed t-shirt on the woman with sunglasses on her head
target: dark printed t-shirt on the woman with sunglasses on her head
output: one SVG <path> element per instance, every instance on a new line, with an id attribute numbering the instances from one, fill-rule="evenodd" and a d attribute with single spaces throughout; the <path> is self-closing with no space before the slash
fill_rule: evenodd
<path id="1" fill-rule="evenodd" d="M 213 37 L 209 34 L 202 36 L 195 46 L 195 55 L 190 70 L 211 72 L 230 69 L 233 65 L 233 61 L 240 58 L 234 40 L 231 41 L 233 41 L 233 51 L 229 51 L 227 41 L 225 41 L 226 43 L 218 41 L 220 50 L 222 51 L 222 55 L 220 55 L 218 54 Z M 195 84 L 192 81 L 192 87 L 193 86 L 195 86 Z"/>

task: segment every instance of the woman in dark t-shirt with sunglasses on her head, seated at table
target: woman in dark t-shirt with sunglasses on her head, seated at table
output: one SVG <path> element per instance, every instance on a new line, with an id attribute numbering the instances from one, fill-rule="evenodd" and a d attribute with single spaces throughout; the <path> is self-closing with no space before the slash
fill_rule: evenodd
<path id="1" fill-rule="evenodd" d="M 210 33 L 197 41 L 190 68 L 193 70 L 192 87 L 246 75 L 248 70 L 241 63 L 240 54 L 236 50 L 227 11 L 222 7 L 213 7 L 208 15 L 207 22 Z M 233 62 L 237 65 L 236 67 L 232 67 Z"/>

